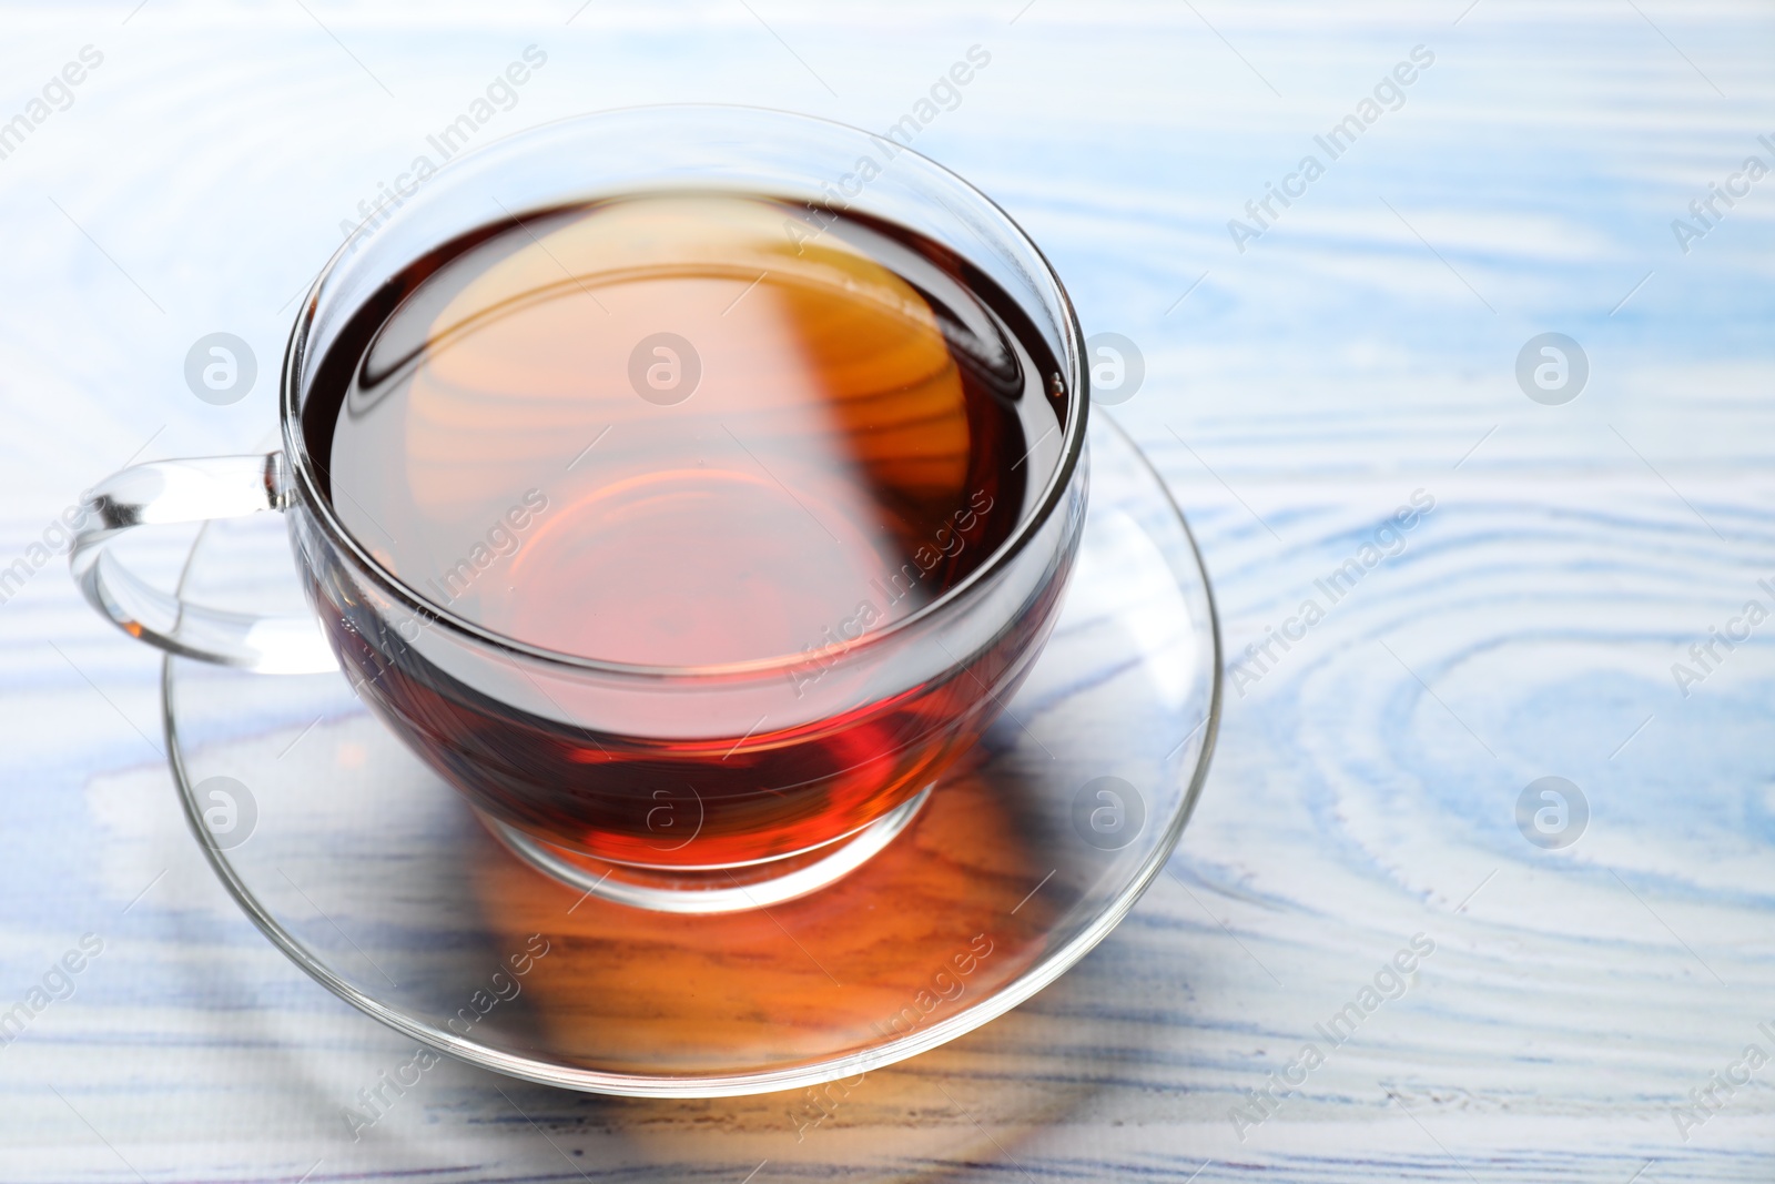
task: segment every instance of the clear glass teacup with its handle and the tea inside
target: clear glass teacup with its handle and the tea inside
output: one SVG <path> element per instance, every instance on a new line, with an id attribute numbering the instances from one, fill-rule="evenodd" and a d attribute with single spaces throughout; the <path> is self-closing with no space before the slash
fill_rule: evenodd
<path id="1" fill-rule="evenodd" d="M 548 268 L 561 275 L 536 279 Z M 703 291 L 683 286 L 690 277 L 733 302 L 721 320 L 714 304 L 692 316 L 678 296 L 660 300 L 662 277 L 673 293 Z M 785 353 L 758 320 L 785 309 L 838 328 L 815 344 L 801 328 Z M 857 318 L 877 318 L 879 332 L 861 334 Z M 438 453 L 438 424 L 469 398 L 463 359 L 501 332 L 548 325 L 568 327 L 550 341 L 579 351 L 570 369 L 582 385 L 547 401 L 492 367 L 472 398 L 477 414 L 499 414 L 458 433 L 476 451 Z M 864 341 L 877 353 L 852 357 Z M 932 364 L 916 383 L 880 378 L 928 343 L 953 376 Z M 570 119 L 403 186 L 302 304 L 282 367 L 282 449 L 108 478 L 71 564 L 101 614 L 170 653 L 264 673 L 343 669 L 497 836 L 552 875 L 641 907 L 765 905 L 880 850 L 1033 666 L 1085 518 L 1081 357 L 1067 295 L 1028 236 L 898 142 L 754 108 Z M 840 462 L 811 465 L 806 437 L 774 431 L 785 385 L 758 375 L 785 364 L 797 391 L 831 375 L 873 383 L 873 401 L 845 412 Z M 808 380 L 815 371 L 825 378 Z M 758 391 L 776 401 L 760 405 Z M 925 410 L 902 415 L 909 391 Z M 804 403 L 793 408 L 806 419 Z M 943 470 L 950 485 L 930 478 L 923 444 L 907 444 L 932 438 L 932 422 L 962 440 Z M 362 440 L 382 449 L 380 467 L 350 469 Z M 488 456 L 497 495 L 474 501 Z M 856 479 L 900 497 L 895 474 L 912 474 L 923 501 L 875 534 L 852 529 L 843 497 L 820 485 Z M 433 490 L 422 511 L 389 501 L 419 486 Z M 135 525 L 266 509 L 288 520 L 312 616 L 186 604 L 106 550 Z M 662 543 L 664 527 L 637 522 L 680 524 L 690 538 Z M 605 538 L 619 525 L 621 545 Z M 866 564 L 832 575 L 838 559 L 797 566 L 827 547 L 815 527 L 832 556 L 891 554 L 873 579 L 852 579 Z M 742 547 L 733 536 L 747 531 L 758 538 Z M 895 531 L 903 538 L 884 543 Z M 428 570 L 412 556 L 431 534 L 485 545 L 446 549 Z M 738 563 L 730 552 L 758 549 L 781 552 L 770 595 L 831 593 L 838 607 L 767 635 L 770 614 L 744 600 L 751 584 L 719 579 Z M 513 609 L 543 584 L 552 616 Z M 687 660 L 690 641 L 650 650 L 635 588 L 682 602 L 690 623 L 673 637 L 694 641 L 708 618 L 738 648 L 722 643 L 706 660 Z"/>

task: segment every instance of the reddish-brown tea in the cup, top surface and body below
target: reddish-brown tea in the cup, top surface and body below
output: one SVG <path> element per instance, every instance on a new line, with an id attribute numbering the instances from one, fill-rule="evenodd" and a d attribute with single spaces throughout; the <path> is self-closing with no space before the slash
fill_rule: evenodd
<path id="1" fill-rule="evenodd" d="M 655 193 L 438 249 L 359 312 L 304 407 L 339 518 L 449 612 L 607 662 L 785 659 L 916 612 L 1033 511 L 1056 366 L 950 252 L 831 217 L 797 243 L 797 206 Z M 895 703 L 698 742 L 493 717 L 375 630 L 335 643 L 497 815 L 591 854 L 712 864 L 836 838 L 927 785 L 973 738 L 943 726 L 983 726 L 980 685 L 1024 632 Z M 696 797 L 694 850 L 662 852 L 657 790 Z"/>

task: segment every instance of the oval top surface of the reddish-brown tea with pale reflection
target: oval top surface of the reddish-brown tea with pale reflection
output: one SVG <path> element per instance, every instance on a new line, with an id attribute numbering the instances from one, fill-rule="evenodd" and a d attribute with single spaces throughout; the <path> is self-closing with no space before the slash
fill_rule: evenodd
<path id="1" fill-rule="evenodd" d="M 653 193 L 421 261 L 304 412 L 341 520 L 451 612 L 612 662 L 786 657 L 930 604 L 1058 463 L 1053 366 L 948 252 L 802 215 Z"/>

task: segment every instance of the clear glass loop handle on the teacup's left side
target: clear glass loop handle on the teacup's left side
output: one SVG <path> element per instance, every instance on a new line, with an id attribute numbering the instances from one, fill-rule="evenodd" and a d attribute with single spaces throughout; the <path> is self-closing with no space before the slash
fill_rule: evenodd
<path id="1" fill-rule="evenodd" d="M 289 506 L 282 453 L 204 456 L 131 465 L 94 486 L 82 506 L 67 566 L 87 604 L 131 637 L 169 653 L 268 675 L 337 669 L 312 616 L 261 616 L 188 604 L 162 591 L 106 554 L 138 525 L 241 518 Z"/>

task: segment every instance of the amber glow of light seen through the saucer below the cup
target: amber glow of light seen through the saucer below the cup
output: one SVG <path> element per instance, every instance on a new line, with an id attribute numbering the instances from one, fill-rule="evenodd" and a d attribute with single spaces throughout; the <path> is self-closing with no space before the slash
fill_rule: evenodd
<path id="1" fill-rule="evenodd" d="M 781 905 L 676 916 L 582 896 L 486 843 L 477 895 L 501 941 L 543 934 L 525 998 L 556 1056 L 621 1072 L 827 1060 L 960 1014 L 1042 957 L 1063 886 L 1014 785 L 951 772 L 905 834 Z"/>

